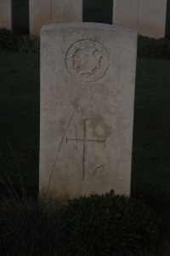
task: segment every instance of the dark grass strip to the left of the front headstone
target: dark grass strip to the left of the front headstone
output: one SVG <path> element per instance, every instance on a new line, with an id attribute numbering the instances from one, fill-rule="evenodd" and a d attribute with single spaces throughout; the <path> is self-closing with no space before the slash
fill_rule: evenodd
<path id="1" fill-rule="evenodd" d="M 8 172 L 18 187 L 18 164 L 26 187 L 36 191 L 39 149 L 39 55 L 1 52 L 0 78 L 1 167 Z"/>

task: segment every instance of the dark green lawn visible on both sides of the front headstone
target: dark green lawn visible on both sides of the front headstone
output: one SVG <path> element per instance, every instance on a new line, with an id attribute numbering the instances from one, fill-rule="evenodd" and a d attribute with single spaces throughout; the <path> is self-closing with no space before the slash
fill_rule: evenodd
<path id="1" fill-rule="evenodd" d="M 39 55 L 0 53 L 0 162 L 18 188 L 17 164 L 38 189 Z M 151 205 L 170 201 L 170 61 L 138 59 L 132 195 Z M 16 164 L 17 161 L 17 164 Z"/>

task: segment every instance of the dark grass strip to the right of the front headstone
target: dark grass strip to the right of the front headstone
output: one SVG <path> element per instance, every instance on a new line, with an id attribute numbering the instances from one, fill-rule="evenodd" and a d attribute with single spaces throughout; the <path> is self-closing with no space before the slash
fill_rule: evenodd
<path id="1" fill-rule="evenodd" d="M 138 60 L 133 132 L 133 195 L 170 200 L 170 61 Z"/>

